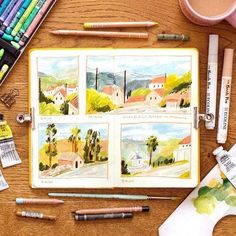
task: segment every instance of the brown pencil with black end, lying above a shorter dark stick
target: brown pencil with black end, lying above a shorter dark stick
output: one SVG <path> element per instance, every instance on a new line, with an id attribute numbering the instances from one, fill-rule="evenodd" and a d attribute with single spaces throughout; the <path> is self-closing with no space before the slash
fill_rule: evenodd
<path id="1" fill-rule="evenodd" d="M 140 207 L 117 207 L 117 208 L 100 208 L 100 209 L 83 209 L 72 213 L 77 215 L 83 214 L 108 214 L 108 213 L 122 213 L 122 212 L 149 212 L 149 206 Z"/>

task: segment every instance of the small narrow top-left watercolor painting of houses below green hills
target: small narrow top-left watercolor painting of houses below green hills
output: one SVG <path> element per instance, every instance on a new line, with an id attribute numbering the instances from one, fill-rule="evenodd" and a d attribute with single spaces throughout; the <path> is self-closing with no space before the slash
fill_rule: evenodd
<path id="1" fill-rule="evenodd" d="M 78 63 L 78 57 L 38 58 L 40 115 L 79 113 Z"/>

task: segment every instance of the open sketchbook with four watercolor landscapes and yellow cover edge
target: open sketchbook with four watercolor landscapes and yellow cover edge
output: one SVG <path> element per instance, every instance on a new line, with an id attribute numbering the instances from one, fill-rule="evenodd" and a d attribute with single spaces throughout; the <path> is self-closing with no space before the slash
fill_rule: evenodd
<path id="1" fill-rule="evenodd" d="M 34 188 L 194 187 L 195 49 L 30 53 Z"/>

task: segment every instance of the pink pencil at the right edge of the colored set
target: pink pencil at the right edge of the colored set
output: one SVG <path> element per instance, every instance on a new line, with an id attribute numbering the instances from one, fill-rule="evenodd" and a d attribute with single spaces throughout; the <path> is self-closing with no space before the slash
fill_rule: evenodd
<path id="1" fill-rule="evenodd" d="M 41 10 L 38 12 L 32 23 L 30 24 L 28 30 L 25 32 L 24 36 L 22 37 L 21 41 L 19 42 L 20 46 L 24 46 L 28 41 L 29 37 L 34 33 L 34 30 L 38 27 L 39 22 L 45 16 L 48 8 L 55 0 L 47 0 Z"/>

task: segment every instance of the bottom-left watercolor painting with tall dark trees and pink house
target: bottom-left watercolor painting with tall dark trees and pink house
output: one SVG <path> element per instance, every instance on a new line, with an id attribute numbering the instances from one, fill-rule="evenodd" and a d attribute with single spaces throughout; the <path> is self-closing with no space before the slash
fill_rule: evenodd
<path id="1" fill-rule="evenodd" d="M 107 178 L 108 124 L 40 124 L 41 178 Z"/>

